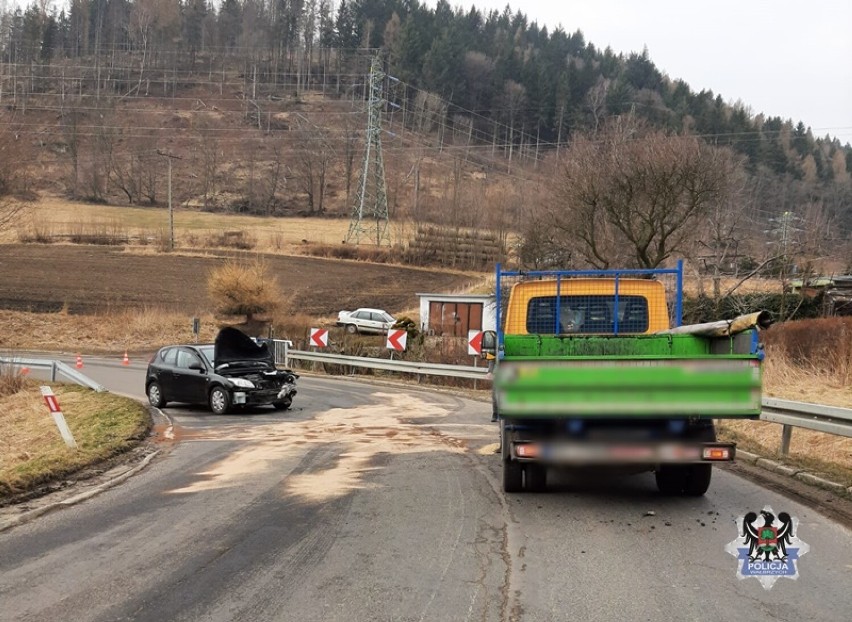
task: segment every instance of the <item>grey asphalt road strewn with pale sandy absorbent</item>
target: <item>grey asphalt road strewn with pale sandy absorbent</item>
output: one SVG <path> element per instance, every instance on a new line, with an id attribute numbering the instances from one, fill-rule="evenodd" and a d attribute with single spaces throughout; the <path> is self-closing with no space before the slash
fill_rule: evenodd
<path id="1" fill-rule="evenodd" d="M 84 371 L 142 395 L 141 367 Z M 0 620 L 849 619 L 852 532 L 732 473 L 700 499 L 648 474 L 504 495 L 487 404 L 299 387 L 285 413 L 167 408 L 143 472 L 0 533 Z M 811 546 L 770 591 L 724 550 L 765 505 Z"/>

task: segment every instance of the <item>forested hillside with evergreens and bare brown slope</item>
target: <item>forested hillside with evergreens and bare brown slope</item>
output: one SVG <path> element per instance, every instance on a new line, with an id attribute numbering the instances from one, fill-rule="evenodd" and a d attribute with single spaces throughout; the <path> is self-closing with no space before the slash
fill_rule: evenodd
<path id="1" fill-rule="evenodd" d="M 747 207 L 763 222 L 756 230 L 795 214 L 818 223 L 827 241 L 848 239 L 852 147 L 813 136 L 807 119 L 694 92 L 647 52 L 599 49 L 568 26 L 445 0 L 435 8 L 417 0 L 7 8 L 0 182 L 26 177 L 33 190 L 161 203 L 171 162 L 175 192 L 193 205 L 345 214 L 360 166 L 366 73 L 380 52 L 392 212 L 517 227 L 529 188 L 572 137 L 630 113 L 740 154 Z M 58 166 L 61 179 L 24 175 L 24 152 Z"/>

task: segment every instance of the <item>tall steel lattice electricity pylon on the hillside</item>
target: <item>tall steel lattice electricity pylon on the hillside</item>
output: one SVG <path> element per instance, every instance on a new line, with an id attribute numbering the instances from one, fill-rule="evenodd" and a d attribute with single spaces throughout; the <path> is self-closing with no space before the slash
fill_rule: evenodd
<path id="1" fill-rule="evenodd" d="M 364 162 L 358 180 L 358 194 L 352 205 L 352 219 L 346 242 L 360 244 L 362 240 L 390 244 L 388 231 L 388 189 L 385 182 L 385 161 L 382 156 L 382 108 L 385 73 L 377 55 L 370 64 L 370 97 L 367 103 L 367 137 Z"/>

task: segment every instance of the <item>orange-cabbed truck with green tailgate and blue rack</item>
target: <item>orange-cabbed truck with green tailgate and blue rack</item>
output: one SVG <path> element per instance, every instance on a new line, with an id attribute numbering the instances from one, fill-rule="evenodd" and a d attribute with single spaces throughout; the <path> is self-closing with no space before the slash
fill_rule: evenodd
<path id="1" fill-rule="evenodd" d="M 660 492 L 703 495 L 734 459 L 714 419 L 761 409 L 765 312 L 682 326 L 683 265 L 506 272 L 497 267 L 493 418 L 503 489 L 541 491 L 553 467 L 652 470 Z"/>

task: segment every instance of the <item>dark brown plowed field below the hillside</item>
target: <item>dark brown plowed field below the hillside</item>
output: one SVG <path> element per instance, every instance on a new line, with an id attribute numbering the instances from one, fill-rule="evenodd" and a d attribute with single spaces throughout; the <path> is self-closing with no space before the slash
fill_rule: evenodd
<path id="1" fill-rule="evenodd" d="M 95 313 L 155 307 L 210 311 L 207 275 L 233 252 L 137 254 L 113 247 L 0 245 L 0 309 Z M 256 255 L 246 255 L 255 257 Z M 475 275 L 299 256 L 265 255 L 291 308 L 310 315 L 416 307 L 418 292 L 450 292 Z"/>

